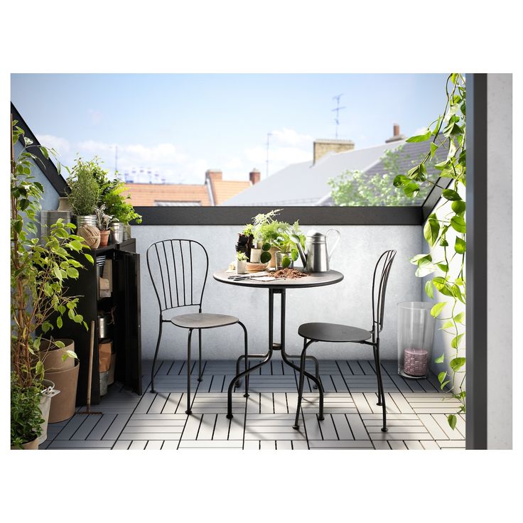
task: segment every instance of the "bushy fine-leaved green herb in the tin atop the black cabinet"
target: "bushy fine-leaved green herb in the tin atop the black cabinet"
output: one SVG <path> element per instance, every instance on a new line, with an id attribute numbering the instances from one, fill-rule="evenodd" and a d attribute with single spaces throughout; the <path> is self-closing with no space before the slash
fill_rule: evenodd
<path id="1" fill-rule="evenodd" d="M 95 214 L 100 187 L 93 173 L 98 167 L 96 160 L 82 161 L 82 158 L 76 158 L 69 173 L 69 203 L 77 216 Z"/>

